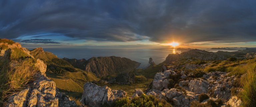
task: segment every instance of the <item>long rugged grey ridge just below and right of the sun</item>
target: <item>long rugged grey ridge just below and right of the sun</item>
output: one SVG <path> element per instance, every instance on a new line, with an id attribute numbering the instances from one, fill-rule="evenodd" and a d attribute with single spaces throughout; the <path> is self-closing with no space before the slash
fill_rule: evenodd
<path id="1" fill-rule="evenodd" d="M 177 61 L 179 59 L 186 59 L 186 58 L 199 59 L 199 60 L 205 60 L 205 61 L 227 59 L 226 57 L 215 54 L 213 52 L 207 52 L 204 50 L 193 49 L 193 50 L 190 50 L 187 52 L 183 52 L 181 54 L 178 54 L 178 53 L 169 54 L 165 59 L 165 63 L 171 63 L 172 61 Z"/>

